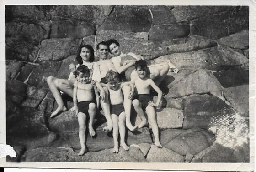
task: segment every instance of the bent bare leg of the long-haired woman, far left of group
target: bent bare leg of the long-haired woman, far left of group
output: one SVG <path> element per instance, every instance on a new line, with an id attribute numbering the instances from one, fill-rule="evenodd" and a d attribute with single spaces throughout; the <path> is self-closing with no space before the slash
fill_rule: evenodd
<path id="1" fill-rule="evenodd" d="M 56 102 L 58 103 L 58 108 L 55 111 L 53 111 L 53 113 L 51 114 L 51 118 L 52 118 L 54 116 L 57 116 L 59 113 L 67 110 L 67 108 L 64 106 L 60 91 L 63 91 L 64 93 L 73 97 L 74 82 L 49 76 L 47 78 L 47 83 L 50 90 L 53 93 L 53 96 Z"/>

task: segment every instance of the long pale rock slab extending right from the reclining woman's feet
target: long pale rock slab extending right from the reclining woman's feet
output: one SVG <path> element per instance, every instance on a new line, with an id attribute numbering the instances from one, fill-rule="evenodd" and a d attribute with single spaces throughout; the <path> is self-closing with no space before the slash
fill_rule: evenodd
<path id="1" fill-rule="evenodd" d="M 248 59 L 226 46 L 161 56 L 156 62 L 170 60 L 178 69 L 234 70 L 248 69 Z"/>

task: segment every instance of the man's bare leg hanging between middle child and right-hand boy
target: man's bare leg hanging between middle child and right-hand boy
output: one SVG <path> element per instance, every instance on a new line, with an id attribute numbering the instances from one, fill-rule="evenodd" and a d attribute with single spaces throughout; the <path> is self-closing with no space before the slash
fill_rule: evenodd
<path id="1" fill-rule="evenodd" d="M 132 100 L 128 98 L 131 91 L 130 86 L 123 86 L 123 107 L 126 115 L 126 126 L 130 131 L 134 131 L 138 128 L 138 126 L 133 126 L 131 123 L 131 106 Z"/>

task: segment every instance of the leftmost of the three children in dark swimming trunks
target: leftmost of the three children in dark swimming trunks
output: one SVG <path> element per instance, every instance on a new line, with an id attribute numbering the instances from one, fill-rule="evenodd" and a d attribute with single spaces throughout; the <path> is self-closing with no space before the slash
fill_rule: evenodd
<path id="1" fill-rule="evenodd" d="M 95 136 L 95 131 L 92 127 L 93 120 L 96 115 L 96 104 L 94 103 L 94 94 L 97 95 L 97 89 L 94 85 L 90 84 L 90 70 L 87 66 L 81 65 L 77 68 L 77 80 L 74 83 L 74 107 L 75 116 L 78 118 L 79 123 L 79 140 L 81 144 L 81 151 L 78 156 L 84 155 L 87 152 L 85 131 L 86 131 L 86 117 L 89 114 L 89 133 L 90 136 Z M 99 83 L 96 86 L 101 90 L 101 99 L 105 98 L 105 91 Z M 97 100 L 98 101 L 98 100 Z M 98 104 L 98 103 L 97 103 Z"/>

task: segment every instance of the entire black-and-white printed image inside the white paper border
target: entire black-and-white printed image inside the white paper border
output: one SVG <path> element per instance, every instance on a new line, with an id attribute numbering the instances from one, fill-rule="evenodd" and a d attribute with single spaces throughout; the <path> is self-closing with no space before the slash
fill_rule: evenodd
<path id="1" fill-rule="evenodd" d="M 6 4 L 6 163 L 249 164 L 250 10 Z"/>

